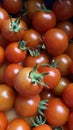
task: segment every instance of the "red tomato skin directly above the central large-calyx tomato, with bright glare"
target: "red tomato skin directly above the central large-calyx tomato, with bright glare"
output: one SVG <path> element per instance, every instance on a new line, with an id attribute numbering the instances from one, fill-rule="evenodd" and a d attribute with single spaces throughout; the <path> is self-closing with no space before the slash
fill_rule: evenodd
<path id="1" fill-rule="evenodd" d="M 30 54 L 26 56 L 24 60 L 25 67 L 34 67 L 38 64 L 39 69 L 42 64 L 49 64 L 49 56 L 45 52 L 40 52 L 38 56 L 31 56 Z"/>

